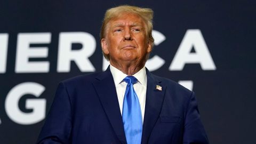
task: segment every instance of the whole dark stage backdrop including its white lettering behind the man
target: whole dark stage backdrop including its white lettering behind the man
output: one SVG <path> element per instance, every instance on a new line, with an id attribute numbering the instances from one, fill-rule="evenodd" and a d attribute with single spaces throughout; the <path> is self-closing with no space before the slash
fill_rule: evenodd
<path id="1" fill-rule="evenodd" d="M 256 143 L 254 1 L 1 1 L 0 143 L 35 143 L 60 81 L 105 70 L 103 14 L 154 10 L 152 73 L 196 93 L 213 144 Z"/>

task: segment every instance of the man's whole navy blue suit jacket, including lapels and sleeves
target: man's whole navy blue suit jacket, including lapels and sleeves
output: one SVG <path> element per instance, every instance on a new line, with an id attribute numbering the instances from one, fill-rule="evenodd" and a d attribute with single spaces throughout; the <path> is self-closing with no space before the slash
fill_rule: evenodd
<path id="1" fill-rule="evenodd" d="M 147 79 L 141 143 L 209 143 L 194 92 L 148 70 Z M 38 143 L 126 143 L 109 68 L 59 84 Z"/>

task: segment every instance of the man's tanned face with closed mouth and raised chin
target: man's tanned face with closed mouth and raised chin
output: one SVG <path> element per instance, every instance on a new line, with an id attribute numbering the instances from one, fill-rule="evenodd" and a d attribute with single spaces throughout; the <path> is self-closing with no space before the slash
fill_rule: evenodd
<path id="1" fill-rule="evenodd" d="M 151 51 L 145 22 L 136 14 L 124 13 L 110 20 L 106 36 L 101 39 L 102 50 L 109 54 L 110 63 L 135 62 L 144 65 Z"/>

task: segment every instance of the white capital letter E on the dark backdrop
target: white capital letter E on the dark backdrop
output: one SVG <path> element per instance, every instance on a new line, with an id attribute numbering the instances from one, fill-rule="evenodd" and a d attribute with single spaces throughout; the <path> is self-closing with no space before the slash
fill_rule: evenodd
<path id="1" fill-rule="evenodd" d="M 30 47 L 30 44 L 48 44 L 50 42 L 51 33 L 18 34 L 15 72 L 48 73 L 49 61 L 30 62 L 29 58 L 46 58 L 48 56 L 47 47 Z"/>

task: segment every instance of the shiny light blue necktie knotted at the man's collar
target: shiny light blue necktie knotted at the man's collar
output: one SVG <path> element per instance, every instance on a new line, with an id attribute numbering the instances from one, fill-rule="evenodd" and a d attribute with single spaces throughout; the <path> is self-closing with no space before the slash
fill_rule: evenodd
<path id="1" fill-rule="evenodd" d="M 127 76 L 127 83 L 123 103 L 123 123 L 127 144 L 140 144 L 142 135 L 142 116 L 140 101 L 133 89 L 138 80 L 134 76 Z"/>

